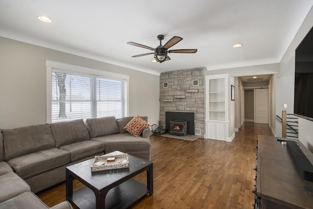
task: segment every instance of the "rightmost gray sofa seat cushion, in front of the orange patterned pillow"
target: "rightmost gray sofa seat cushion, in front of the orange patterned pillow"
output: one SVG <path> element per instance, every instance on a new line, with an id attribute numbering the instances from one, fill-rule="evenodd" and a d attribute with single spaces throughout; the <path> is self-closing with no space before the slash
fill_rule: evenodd
<path id="1" fill-rule="evenodd" d="M 97 137 L 92 140 L 100 141 L 105 144 L 105 152 L 120 151 L 127 153 L 129 151 L 150 150 L 151 143 L 149 139 L 134 137 L 129 133 L 112 134 L 103 137 Z"/>

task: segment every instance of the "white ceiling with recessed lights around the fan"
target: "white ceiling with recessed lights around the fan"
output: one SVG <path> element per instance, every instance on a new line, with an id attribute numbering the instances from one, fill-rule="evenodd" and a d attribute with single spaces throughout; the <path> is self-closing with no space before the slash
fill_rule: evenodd
<path id="1" fill-rule="evenodd" d="M 159 75 L 280 62 L 313 0 L 0 0 L 0 36 Z M 43 23 L 37 16 L 50 17 Z M 152 63 L 156 36 L 183 38 Z M 236 43 L 242 47 L 233 48 Z"/>

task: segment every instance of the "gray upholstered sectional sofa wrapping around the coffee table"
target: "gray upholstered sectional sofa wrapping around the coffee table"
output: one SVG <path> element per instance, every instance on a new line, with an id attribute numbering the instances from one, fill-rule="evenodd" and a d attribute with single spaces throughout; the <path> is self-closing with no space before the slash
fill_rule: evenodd
<path id="1" fill-rule="evenodd" d="M 36 199 L 33 192 L 66 180 L 68 165 L 96 155 L 118 150 L 150 161 L 151 130 L 132 136 L 124 130 L 132 118 L 110 116 L 87 119 L 86 123 L 80 119 L 0 130 L 0 208 L 11 204 L 8 201 L 13 198 Z M 2 184 L 10 181 L 19 185 Z"/>

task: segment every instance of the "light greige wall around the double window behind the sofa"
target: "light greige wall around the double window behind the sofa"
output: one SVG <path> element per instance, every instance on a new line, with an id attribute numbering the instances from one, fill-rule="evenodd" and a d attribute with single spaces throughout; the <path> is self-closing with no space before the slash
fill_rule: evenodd
<path id="1" fill-rule="evenodd" d="M 129 115 L 159 121 L 159 76 L 0 37 L 0 128 L 46 123 L 45 60 L 129 75 Z"/>

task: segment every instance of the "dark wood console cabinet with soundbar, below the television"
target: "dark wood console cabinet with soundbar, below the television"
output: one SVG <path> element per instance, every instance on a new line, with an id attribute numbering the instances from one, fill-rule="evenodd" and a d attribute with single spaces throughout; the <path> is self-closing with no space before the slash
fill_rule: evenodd
<path id="1" fill-rule="evenodd" d="M 280 138 L 281 139 L 281 138 Z M 299 146 L 313 163 L 311 153 L 299 140 Z M 260 209 L 313 209 L 313 182 L 303 180 L 287 149 L 276 137 L 259 136 L 255 208 Z"/>

